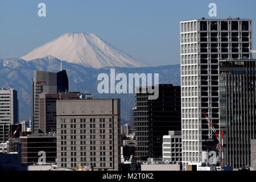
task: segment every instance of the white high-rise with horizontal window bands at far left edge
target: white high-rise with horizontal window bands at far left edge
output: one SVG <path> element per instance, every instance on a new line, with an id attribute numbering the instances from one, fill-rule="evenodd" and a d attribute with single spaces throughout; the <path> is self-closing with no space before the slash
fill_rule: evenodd
<path id="1" fill-rule="evenodd" d="M 0 89 L 0 125 L 19 122 L 18 96 L 14 89 Z"/>

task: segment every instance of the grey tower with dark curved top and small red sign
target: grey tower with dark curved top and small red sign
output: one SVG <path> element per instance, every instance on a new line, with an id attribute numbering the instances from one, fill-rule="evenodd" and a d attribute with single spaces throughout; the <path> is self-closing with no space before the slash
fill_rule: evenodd
<path id="1" fill-rule="evenodd" d="M 34 71 L 32 79 L 32 133 L 39 131 L 39 94 L 68 92 L 68 76 L 66 71 L 57 73 Z"/>

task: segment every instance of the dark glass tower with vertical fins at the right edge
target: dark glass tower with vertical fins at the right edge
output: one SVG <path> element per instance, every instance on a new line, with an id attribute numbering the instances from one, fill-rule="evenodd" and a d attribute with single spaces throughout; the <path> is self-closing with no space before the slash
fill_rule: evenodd
<path id="1" fill-rule="evenodd" d="M 256 60 L 219 62 L 220 130 L 224 164 L 251 166 L 251 140 L 256 139 Z"/>

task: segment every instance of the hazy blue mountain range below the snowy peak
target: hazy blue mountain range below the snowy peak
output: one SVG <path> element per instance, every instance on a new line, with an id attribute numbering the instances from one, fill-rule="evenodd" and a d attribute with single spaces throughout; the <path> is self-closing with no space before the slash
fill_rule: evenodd
<path id="1" fill-rule="evenodd" d="M 25 56 L 28 57 L 28 56 Z M 32 57 L 32 56 L 31 56 Z M 104 64 L 102 64 L 104 65 Z M 63 61 L 63 69 L 67 71 L 69 92 L 92 93 L 96 98 L 121 98 L 121 118 L 125 122 L 130 120 L 130 109 L 135 104 L 134 94 L 99 94 L 97 92 L 97 76 L 100 73 L 110 75 L 110 68 L 116 73 L 159 73 L 162 84 L 180 85 L 180 65 L 166 65 L 160 67 L 104 67 L 88 68 L 85 65 Z M 28 119 L 31 115 L 31 80 L 33 71 L 59 72 L 60 60 L 53 56 L 26 61 L 23 59 L 0 59 L 0 87 L 18 90 L 19 119 Z"/>

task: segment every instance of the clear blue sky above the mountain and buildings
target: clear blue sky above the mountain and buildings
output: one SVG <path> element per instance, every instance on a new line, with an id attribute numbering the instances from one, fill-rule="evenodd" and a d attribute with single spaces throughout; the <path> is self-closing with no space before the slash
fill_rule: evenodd
<path id="1" fill-rule="evenodd" d="M 40 2 L 46 17 L 38 16 Z M 179 22 L 210 18 L 211 2 L 216 18 L 250 18 L 256 28 L 255 0 L 0 0 L 0 59 L 26 55 L 67 32 L 92 32 L 138 60 L 179 64 Z"/>

